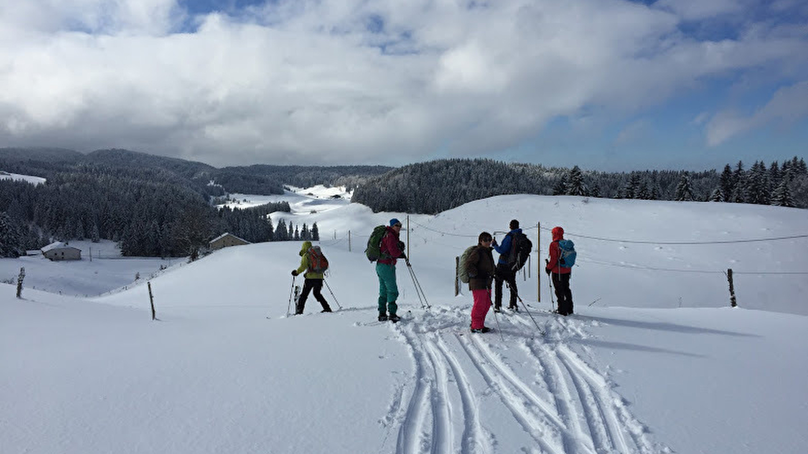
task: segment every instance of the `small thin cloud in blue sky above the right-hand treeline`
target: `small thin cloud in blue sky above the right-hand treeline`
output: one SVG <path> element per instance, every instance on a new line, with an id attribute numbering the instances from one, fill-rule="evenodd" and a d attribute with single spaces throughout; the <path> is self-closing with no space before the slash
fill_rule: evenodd
<path id="1" fill-rule="evenodd" d="M 808 81 L 777 90 L 765 106 L 752 115 L 723 110 L 710 119 L 706 127 L 707 144 L 715 146 L 730 138 L 771 123 L 788 127 L 808 116 Z"/>

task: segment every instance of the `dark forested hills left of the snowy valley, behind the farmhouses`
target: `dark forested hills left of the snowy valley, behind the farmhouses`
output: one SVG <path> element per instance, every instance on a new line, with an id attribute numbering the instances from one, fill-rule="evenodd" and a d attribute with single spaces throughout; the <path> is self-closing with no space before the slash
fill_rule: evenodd
<path id="1" fill-rule="evenodd" d="M 267 216 L 288 211 L 288 203 L 218 210 L 212 197 L 225 191 L 283 194 L 284 184 L 356 186 L 386 169 L 265 165 L 222 170 L 123 149 L 84 155 L 59 148 L 0 148 L 0 170 L 46 179 L 41 185 L 0 179 L 0 256 L 19 256 L 54 239 L 112 239 L 127 256 L 195 256 L 208 239 L 225 231 L 252 242 L 292 239 L 292 226 L 276 229 Z"/>

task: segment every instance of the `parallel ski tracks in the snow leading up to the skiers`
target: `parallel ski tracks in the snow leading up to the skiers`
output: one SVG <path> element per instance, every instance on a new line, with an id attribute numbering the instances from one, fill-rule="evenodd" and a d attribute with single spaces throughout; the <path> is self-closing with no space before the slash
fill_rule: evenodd
<path id="1" fill-rule="evenodd" d="M 460 328 L 468 326 L 468 308 L 432 307 L 390 325 L 413 361 L 410 380 L 381 419 L 388 431 L 398 428 L 396 454 L 501 452 L 486 427 L 491 405 L 503 406 L 527 435 L 522 452 L 671 452 L 650 441 L 608 379 L 570 346 L 588 337 L 583 321 L 532 315 L 497 314 L 504 342 L 497 331 Z M 534 323 L 544 324 L 545 336 Z M 511 358 L 516 353 L 524 361 Z"/>

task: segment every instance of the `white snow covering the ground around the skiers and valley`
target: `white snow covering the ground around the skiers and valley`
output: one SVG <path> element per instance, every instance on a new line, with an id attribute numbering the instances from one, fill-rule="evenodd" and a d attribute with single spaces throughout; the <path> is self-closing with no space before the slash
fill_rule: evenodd
<path id="1" fill-rule="evenodd" d="M 808 452 L 808 211 L 512 195 L 409 215 L 402 239 L 431 308 L 399 263 L 405 320 L 392 324 L 375 320 L 364 243 L 408 216 L 296 193 L 284 219 L 318 223 L 333 314 L 310 297 L 287 316 L 299 242 L 225 248 L 149 277 L 158 321 L 146 277 L 122 289 L 107 266 L 74 283 L 91 298 L 26 285 L 16 299 L 0 284 L 2 451 Z M 454 257 L 514 218 L 534 247 L 541 232 L 518 280 L 530 314 L 489 313 L 495 331 L 472 335 Z M 536 275 L 556 225 L 579 252 L 567 318 L 549 314 Z M 33 259 L 0 262 L 2 276 Z"/>

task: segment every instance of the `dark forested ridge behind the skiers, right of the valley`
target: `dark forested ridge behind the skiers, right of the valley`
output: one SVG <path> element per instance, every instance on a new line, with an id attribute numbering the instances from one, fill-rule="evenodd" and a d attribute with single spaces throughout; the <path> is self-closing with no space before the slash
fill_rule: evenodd
<path id="1" fill-rule="evenodd" d="M 488 159 L 431 160 L 405 165 L 360 185 L 353 195 L 377 211 L 437 214 L 480 198 L 503 194 L 581 195 L 646 200 L 741 202 L 808 207 L 808 169 L 796 156 L 767 168 L 646 170 L 606 173 L 508 164 Z"/>

